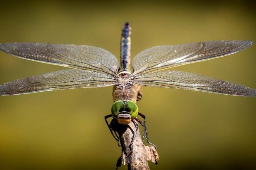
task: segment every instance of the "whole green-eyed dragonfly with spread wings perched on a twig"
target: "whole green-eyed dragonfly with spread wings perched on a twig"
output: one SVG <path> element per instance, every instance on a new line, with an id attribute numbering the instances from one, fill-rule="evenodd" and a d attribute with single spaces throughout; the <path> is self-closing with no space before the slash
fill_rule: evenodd
<path id="1" fill-rule="evenodd" d="M 26 77 L 0 85 L 0 95 L 17 95 L 43 91 L 113 86 L 110 115 L 105 121 L 119 141 L 112 122 L 128 125 L 137 121 L 148 132 L 145 115 L 138 110 L 142 98 L 141 86 L 177 88 L 234 96 L 256 96 L 256 90 L 240 84 L 184 71 L 165 69 L 231 55 L 253 45 L 252 41 L 210 41 L 183 45 L 162 45 L 135 55 L 131 62 L 131 26 L 125 23 L 121 32 L 120 67 L 117 58 L 105 49 L 88 45 L 45 43 L 2 43 L 0 50 L 28 60 L 55 64 L 71 69 Z M 132 71 L 130 71 L 130 65 Z M 141 116 L 144 121 L 138 119 Z M 133 132 L 134 133 L 134 132 Z M 152 144 L 153 145 L 153 144 Z M 153 145 L 154 146 L 154 145 Z"/>

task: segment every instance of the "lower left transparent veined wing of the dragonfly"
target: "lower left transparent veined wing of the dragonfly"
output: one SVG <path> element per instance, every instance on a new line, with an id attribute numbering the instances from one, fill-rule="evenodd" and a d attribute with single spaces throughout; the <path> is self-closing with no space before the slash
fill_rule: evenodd
<path id="1" fill-rule="evenodd" d="M 3 83 L 0 85 L 0 96 L 73 88 L 105 87 L 114 84 L 115 79 L 109 74 L 68 69 Z"/>

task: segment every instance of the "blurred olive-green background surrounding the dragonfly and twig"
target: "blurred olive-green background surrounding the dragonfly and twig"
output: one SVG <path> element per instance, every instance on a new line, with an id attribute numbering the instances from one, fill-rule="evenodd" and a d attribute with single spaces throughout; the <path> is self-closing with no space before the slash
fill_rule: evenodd
<path id="1" fill-rule="evenodd" d="M 132 57 L 156 45 L 256 41 L 254 7 L 246 1 L 1 1 L 0 43 L 93 45 L 119 60 L 126 21 Z M 0 52 L 0 83 L 60 69 Z M 256 45 L 174 70 L 256 88 Z M 256 98 L 142 90 L 138 107 L 160 156 L 151 170 L 256 169 Z M 114 170 L 121 148 L 104 122 L 111 106 L 112 87 L 0 96 L 0 170 Z"/>

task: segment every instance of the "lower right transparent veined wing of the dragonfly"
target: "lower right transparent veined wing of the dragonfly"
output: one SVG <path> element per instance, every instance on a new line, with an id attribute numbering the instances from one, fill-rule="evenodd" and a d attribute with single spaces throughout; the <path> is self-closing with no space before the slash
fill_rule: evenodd
<path id="1" fill-rule="evenodd" d="M 255 89 L 182 71 L 159 71 L 138 75 L 131 82 L 148 87 L 179 88 L 235 96 L 256 96 Z"/>

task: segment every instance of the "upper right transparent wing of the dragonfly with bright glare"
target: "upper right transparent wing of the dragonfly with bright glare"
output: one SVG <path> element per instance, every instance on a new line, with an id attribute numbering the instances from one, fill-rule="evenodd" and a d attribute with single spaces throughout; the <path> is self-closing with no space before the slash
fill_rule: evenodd
<path id="1" fill-rule="evenodd" d="M 213 41 L 148 48 L 133 59 L 132 75 L 230 55 L 252 44 L 252 41 Z"/>

